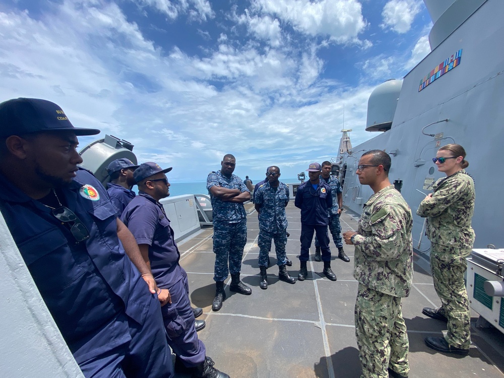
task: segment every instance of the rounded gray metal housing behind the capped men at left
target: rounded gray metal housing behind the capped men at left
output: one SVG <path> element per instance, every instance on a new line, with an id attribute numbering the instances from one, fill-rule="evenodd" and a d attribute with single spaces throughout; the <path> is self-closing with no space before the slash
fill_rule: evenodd
<path id="1" fill-rule="evenodd" d="M 137 157 L 132 151 L 133 145 L 130 142 L 105 135 L 104 139 L 90 143 L 79 152 L 83 160 L 81 166 L 89 169 L 105 184 L 109 181 L 107 166 L 115 159 L 127 158 L 137 164 Z"/>

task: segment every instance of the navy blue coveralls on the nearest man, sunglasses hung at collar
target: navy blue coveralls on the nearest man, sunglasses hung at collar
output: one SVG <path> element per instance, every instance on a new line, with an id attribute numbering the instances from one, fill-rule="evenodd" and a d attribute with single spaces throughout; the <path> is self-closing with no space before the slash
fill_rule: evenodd
<path id="1" fill-rule="evenodd" d="M 76 243 L 52 210 L 0 174 L 0 208 L 61 335 L 86 377 L 170 377 L 159 300 L 124 254 L 102 184 L 79 170 L 56 190 L 90 237 Z"/>

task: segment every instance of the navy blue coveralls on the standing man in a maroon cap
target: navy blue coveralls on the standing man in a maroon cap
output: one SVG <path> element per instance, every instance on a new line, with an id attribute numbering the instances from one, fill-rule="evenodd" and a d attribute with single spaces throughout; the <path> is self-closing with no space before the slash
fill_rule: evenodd
<path id="1" fill-rule="evenodd" d="M 322 261 L 331 261 L 327 225 L 327 210 L 333 206 L 331 187 L 320 180 L 317 188 L 310 181 L 305 181 L 297 188 L 294 205 L 301 209 L 301 254 L 299 261 L 308 261 L 313 232 L 317 233 L 322 251 Z"/>

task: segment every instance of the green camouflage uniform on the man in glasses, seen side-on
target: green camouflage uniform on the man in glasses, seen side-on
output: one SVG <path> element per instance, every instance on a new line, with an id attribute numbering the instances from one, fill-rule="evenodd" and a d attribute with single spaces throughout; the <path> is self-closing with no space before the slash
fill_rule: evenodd
<path id="1" fill-rule="evenodd" d="M 372 195 L 362 210 L 353 276 L 359 281 L 355 333 L 364 378 L 388 378 L 389 367 L 409 372 L 401 298 L 413 279 L 412 226 L 411 210 L 394 185 Z"/>

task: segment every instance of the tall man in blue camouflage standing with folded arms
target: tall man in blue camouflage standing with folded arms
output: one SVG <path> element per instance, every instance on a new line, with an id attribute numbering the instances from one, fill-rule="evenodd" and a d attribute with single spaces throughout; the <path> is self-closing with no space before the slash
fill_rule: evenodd
<path id="1" fill-rule="evenodd" d="M 207 189 L 212 201 L 215 254 L 215 298 L 212 310 L 218 311 L 226 299 L 224 280 L 231 273 L 229 290 L 243 295 L 252 289 L 240 281 L 241 259 L 247 242 L 247 218 L 243 203 L 250 200 L 250 192 L 237 175 L 233 174 L 236 158 L 227 154 L 221 161 L 221 169 L 210 172 Z M 229 265 L 228 265 L 229 261 Z"/>

